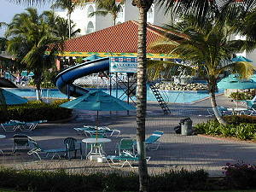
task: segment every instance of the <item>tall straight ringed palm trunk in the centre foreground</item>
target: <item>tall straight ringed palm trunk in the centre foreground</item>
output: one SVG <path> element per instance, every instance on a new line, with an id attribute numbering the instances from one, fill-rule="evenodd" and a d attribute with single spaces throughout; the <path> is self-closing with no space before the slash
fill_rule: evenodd
<path id="1" fill-rule="evenodd" d="M 137 153 L 139 157 L 139 191 L 148 191 L 148 167 L 145 151 L 145 119 L 147 107 L 146 87 L 146 34 L 147 9 L 139 8 L 138 47 L 137 47 Z"/>

